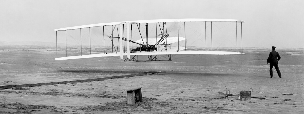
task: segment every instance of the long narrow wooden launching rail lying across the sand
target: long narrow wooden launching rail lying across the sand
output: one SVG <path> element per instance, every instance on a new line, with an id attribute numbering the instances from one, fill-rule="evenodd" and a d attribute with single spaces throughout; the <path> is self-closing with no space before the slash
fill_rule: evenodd
<path id="1" fill-rule="evenodd" d="M 56 85 L 56 84 L 78 83 L 78 82 L 90 82 L 90 81 L 100 81 L 100 80 L 107 80 L 107 79 L 114 79 L 114 78 L 124 78 L 124 77 L 143 76 L 143 75 L 147 75 L 147 73 L 128 74 L 128 75 L 110 76 L 110 77 L 84 79 L 84 80 L 73 80 L 73 81 L 57 81 L 57 82 L 36 83 L 36 84 L 21 84 L 21 85 L 0 85 L 0 89 L 36 87 L 36 86 L 41 86 L 41 85 Z"/>

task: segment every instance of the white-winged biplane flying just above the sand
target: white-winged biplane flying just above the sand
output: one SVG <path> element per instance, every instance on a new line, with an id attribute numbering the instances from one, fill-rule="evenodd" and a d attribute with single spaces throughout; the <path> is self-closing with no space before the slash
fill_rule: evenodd
<path id="1" fill-rule="evenodd" d="M 205 37 L 199 36 L 201 39 L 206 39 L 206 22 L 211 22 L 211 31 L 212 31 L 212 22 L 230 22 L 230 23 L 240 23 L 242 24 L 242 20 L 236 19 L 154 19 L 154 20 L 137 20 L 137 21 L 123 21 L 123 22 L 109 22 L 109 23 L 98 23 L 91 25 L 83 25 L 83 26 L 73 26 L 61 29 L 54 29 L 56 31 L 56 43 L 57 43 L 57 31 L 67 31 L 80 29 L 80 44 L 81 44 L 81 30 L 82 29 L 91 29 L 94 27 L 102 27 L 103 31 L 105 31 L 105 27 L 111 28 L 108 35 L 105 35 L 103 32 L 103 43 L 104 53 L 99 54 L 91 54 L 91 40 L 90 40 L 90 53 L 89 54 L 80 54 L 77 56 L 67 56 L 58 58 L 58 47 L 57 47 L 57 58 L 55 60 L 69 60 L 69 59 L 81 59 L 81 58 L 92 58 L 92 57 L 114 57 L 120 56 L 120 59 L 124 61 L 163 61 L 163 60 L 172 60 L 171 55 L 178 54 L 211 54 L 211 55 L 232 55 L 232 54 L 244 54 L 243 52 L 232 52 L 232 51 L 215 51 L 211 50 L 188 50 L 187 49 L 187 39 L 186 39 L 186 22 L 201 22 L 205 23 Z M 171 23 L 171 25 L 168 25 Z M 173 23 L 173 24 L 172 24 Z M 141 25 L 140 25 L 141 24 Z M 141 26 L 145 27 L 141 27 Z M 180 26 L 181 25 L 181 26 Z M 113 29 L 114 26 L 114 29 Z M 151 29 L 148 26 L 153 26 Z M 167 26 L 175 26 L 171 27 L 168 30 Z M 145 28 L 144 30 L 141 28 Z M 174 30 L 173 30 L 174 29 Z M 237 26 L 236 28 L 237 29 Z M 102 31 L 102 30 L 101 30 Z M 134 31 L 136 31 L 137 36 L 133 35 Z M 153 31 L 153 32 L 151 32 Z M 175 31 L 172 32 L 172 31 Z M 114 33 L 116 32 L 116 35 Z M 130 35 L 131 33 L 131 35 Z M 149 33 L 153 33 L 153 36 L 150 36 Z M 145 35 L 143 35 L 145 34 Z M 237 31 L 236 31 L 237 34 Z M 237 34 L 238 35 L 238 34 Z M 236 35 L 236 39 L 237 39 Z M 67 36 L 66 36 L 67 37 Z M 91 33 L 90 36 L 91 38 Z M 242 36 L 241 36 L 242 37 Z M 106 38 L 106 39 L 105 39 Z M 105 44 L 106 40 L 110 40 L 108 44 Z M 135 41 L 133 41 L 135 39 Z M 117 48 L 114 46 L 117 40 Z M 207 42 L 205 42 L 207 43 Z M 67 42 L 66 42 L 67 44 Z M 119 45 L 118 45 L 119 44 Z M 127 46 L 125 46 L 125 44 Z M 130 44 L 132 45 L 130 49 Z M 105 50 L 105 45 L 112 46 L 112 52 L 110 50 Z M 134 47 L 137 46 L 137 47 Z M 212 46 L 212 32 L 211 32 L 211 46 Z M 237 46 L 237 45 L 236 45 Z M 206 46 L 207 47 L 207 46 Z M 82 52 L 82 45 L 81 45 Z M 119 48 L 119 50 L 118 50 Z M 212 47 L 211 47 L 212 48 Z M 242 46 L 243 48 L 243 46 Z M 115 51 L 113 50 L 115 49 Z M 238 47 L 236 48 L 238 49 Z M 243 49 L 242 49 L 243 50 Z M 160 58 L 160 55 L 162 56 Z M 139 56 L 146 56 L 140 57 Z M 164 58 L 165 57 L 165 58 Z M 145 58 L 145 59 L 142 59 Z"/>

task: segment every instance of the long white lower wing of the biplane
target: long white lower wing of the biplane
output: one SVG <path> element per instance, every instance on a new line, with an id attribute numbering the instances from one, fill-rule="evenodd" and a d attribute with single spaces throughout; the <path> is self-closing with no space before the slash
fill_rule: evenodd
<path id="1" fill-rule="evenodd" d="M 136 52 L 130 53 L 130 55 L 174 55 L 174 54 L 196 54 L 196 55 L 232 55 L 232 54 L 244 54 L 240 52 L 229 52 L 229 51 L 151 51 L 151 52 Z M 123 53 L 124 56 L 127 53 Z M 111 57 L 111 56 L 120 56 L 120 53 L 108 53 L 108 54 L 90 54 L 90 55 L 81 55 L 81 56 L 70 56 L 70 57 L 60 57 L 55 58 L 55 60 L 68 60 L 68 59 L 81 59 L 81 58 L 93 58 L 93 57 Z"/>

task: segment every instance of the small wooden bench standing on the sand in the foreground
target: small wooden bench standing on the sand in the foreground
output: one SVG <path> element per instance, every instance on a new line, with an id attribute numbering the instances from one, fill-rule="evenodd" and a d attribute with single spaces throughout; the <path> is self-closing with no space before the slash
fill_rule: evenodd
<path id="1" fill-rule="evenodd" d="M 143 102 L 143 97 L 141 95 L 141 88 L 132 88 L 126 90 L 128 105 L 134 105 L 135 102 Z"/>

